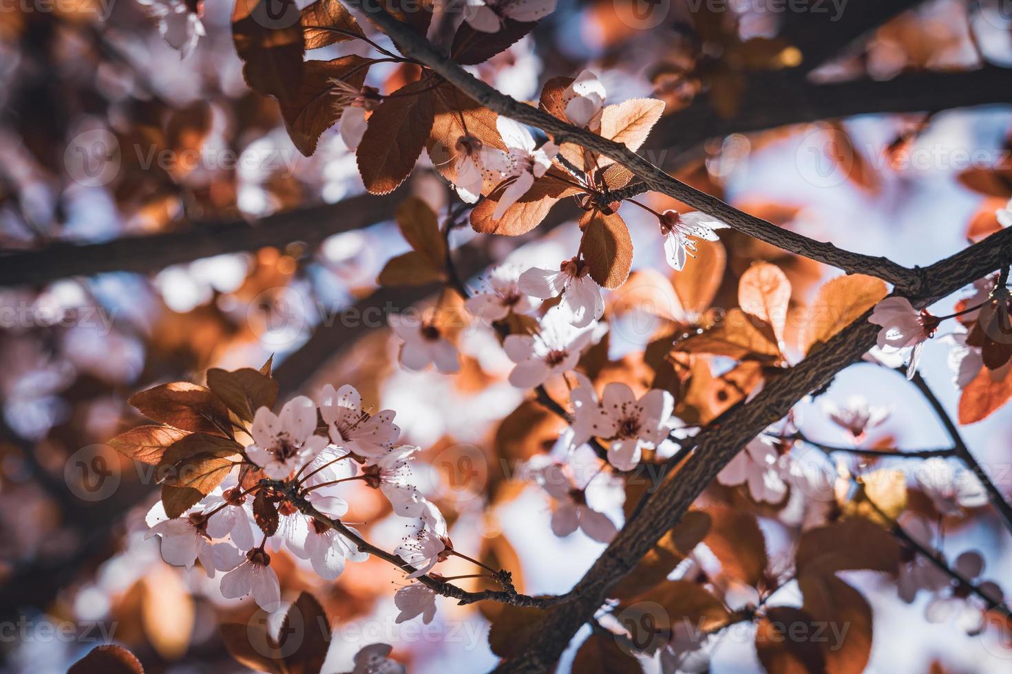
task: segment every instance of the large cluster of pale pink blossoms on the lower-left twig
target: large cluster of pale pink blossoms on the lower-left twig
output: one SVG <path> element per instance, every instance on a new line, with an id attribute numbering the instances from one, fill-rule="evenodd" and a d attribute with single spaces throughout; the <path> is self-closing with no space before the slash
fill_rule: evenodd
<path id="1" fill-rule="evenodd" d="M 358 537 L 354 528 L 334 526 L 348 511 L 342 485 L 360 481 L 378 489 L 396 514 L 417 523 L 395 554 L 419 568 L 411 577 L 422 575 L 445 557 L 449 540 L 439 510 L 413 484 L 410 460 L 418 448 L 396 445 L 401 429 L 394 416 L 362 409 L 358 391 L 348 385 L 325 386 L 319 405 L 299 396 L 279 414 L 260 407 L 245 461 L 182 516 L 170 518 L 162 501 L 156 503 L 147 516 L 149 536 L 161 537 L 169 564 L 189 568 L 199 560 L 209 578 L 225 572 L 225 597 L 252 594 L 262 608 L 274 610 L 280 587 L 272 553 L 287 550 L 325 580 L 337 578 L 346 562 L 368 558 L 351 538 Z M 318 434 L 319 419 L 326 435 Z M 414 593 L 412 588 L 403 591 Z"/>

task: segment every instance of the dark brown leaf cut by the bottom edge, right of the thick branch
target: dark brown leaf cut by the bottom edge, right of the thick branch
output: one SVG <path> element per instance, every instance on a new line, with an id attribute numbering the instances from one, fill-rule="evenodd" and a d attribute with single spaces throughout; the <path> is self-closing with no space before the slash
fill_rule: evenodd
<path id="1" fill-rule="evenodd" d="M 756 628 L 756 654 L 769 674 L 821 674 L 822 649 L 812 616 L 793 606 L 771 606 Z"/>

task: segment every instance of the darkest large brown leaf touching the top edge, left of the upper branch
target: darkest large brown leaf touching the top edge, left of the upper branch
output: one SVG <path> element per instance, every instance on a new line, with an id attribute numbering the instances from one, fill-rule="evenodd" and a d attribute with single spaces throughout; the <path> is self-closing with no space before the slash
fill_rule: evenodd
<path id="1" fill-rule="evenodd" d="M 232 39 L 250 89 L 285 101 L 303 80 L 303 28 L 292 0 L 236 0 Z"/>

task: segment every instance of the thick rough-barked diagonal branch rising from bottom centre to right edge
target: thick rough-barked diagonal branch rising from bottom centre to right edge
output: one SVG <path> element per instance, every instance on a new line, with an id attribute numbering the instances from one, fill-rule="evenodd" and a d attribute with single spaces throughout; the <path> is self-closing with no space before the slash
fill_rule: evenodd
<path id="1" fill-rule="evenodd" d="M 1012 229 L 1006 229 L 921 270 L 928 294 L 919 307 L 952 293 L 997 269 L 1012 252 Z M 643 511 L 626 522 L 579 583 L 574 600 L 549 611 L 523 655 L 504 662 L 498 671 L 547 671 L 577 630 L 604 602 L 609 589 L 653 547 L 696 499 L 716 474 L 750 440 L 783 417 L 810 391 L 858 361 L 875 345 L 878 326 L 861 316 L 824 347 L 767 383 L 751 401 L 734 408 L 715 427 L 701 432 L 692 456 L 670 475 Z"/>

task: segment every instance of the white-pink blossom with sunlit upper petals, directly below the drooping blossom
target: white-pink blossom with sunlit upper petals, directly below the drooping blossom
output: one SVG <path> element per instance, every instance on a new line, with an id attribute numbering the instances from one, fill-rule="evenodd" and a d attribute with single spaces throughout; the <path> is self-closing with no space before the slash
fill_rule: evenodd
<path id="1" fill-rule="evenodd" d="M 532 388 L 551 375 L 569 372 L 590 344 L 593 326 L 574 327 L 559 307 L 553 307 L 541 318 L 536 334 L 510 334 L 503 342 L 506 355 L 516 364 L 509 382 Z"/>

